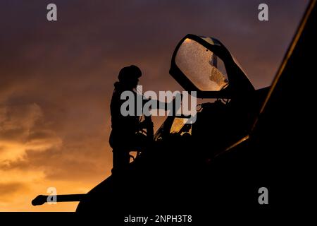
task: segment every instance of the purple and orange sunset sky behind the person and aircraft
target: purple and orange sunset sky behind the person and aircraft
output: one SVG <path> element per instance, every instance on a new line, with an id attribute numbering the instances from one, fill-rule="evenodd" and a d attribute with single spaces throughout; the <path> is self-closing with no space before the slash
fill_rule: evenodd
<path id="1" fill-rule="evenodd" d="M 268 4 L 269 21 L 258 20 Z M 58 20 L 46 20 L 54 3 Z M 308 1 L 1 0 L 0 211 L 46 189 L 86 193 L 111 174 L 110 100 L 118 71 L 142 69 L 143 90 L 181 90 L 168 74 L 188 33 L 216 37 L 256 88 L 271 84 Z M 156 117 L 159 126 L 163 117 Z"/>

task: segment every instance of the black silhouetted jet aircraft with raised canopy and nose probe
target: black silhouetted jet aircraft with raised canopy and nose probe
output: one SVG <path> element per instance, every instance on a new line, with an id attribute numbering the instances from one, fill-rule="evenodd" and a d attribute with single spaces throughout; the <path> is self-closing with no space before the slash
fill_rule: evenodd
<path id="1" fill-rule="evenodd" d="M 104 215 L 210 213 L 259 207 L 258 189 L 265 186 L 272 206 L 294 203 L 290 192 L 304 177 L 299 163 L 313 142 L 308 130 L 313 89 L 306 83 L 316 73 L 311 57 L 316 10 L 311 1 L 271 87 L 260 90 L 219 40 L 186 35 L 175 49 L 170 75 L 197 97 L 216 101 L 199 105 L 194 124 L 168 117 L 125 175 L 57 201 L 80 201 L 77 212 Z M 32 204 L 41 205 L 46 197 Z"/>

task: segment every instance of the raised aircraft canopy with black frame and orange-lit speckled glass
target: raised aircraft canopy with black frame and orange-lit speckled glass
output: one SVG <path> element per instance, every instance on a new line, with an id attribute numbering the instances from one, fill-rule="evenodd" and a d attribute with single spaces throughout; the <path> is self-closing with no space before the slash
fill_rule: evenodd
<path id="1" fill-rule="evenodd" d="M 212 37 L 182 38 L 172 57 L 170 75 L 202 98 L 230 98 L 233 92 L 254 90 L 228 49 Z"/>

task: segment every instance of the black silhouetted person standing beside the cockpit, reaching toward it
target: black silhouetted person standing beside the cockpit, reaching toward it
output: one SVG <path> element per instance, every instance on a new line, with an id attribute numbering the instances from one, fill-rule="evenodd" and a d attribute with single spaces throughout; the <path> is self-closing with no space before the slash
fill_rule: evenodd
<path id="1" fill-rule="evenodd" d="M 119 81 L 114 83 L 114 91 L 111 99 L 111 135 L 109 143 L 113 148 L 113 169 L 112 172 L 118 172 L 128 167 L 130 163 L 130 150 L 135 148 L 140 141 L 140 136 L 136 136 L 137 131 L 146 128 L 145 122 L 139 121 L 137 116 L 137 107 L 135 104 L 135 116 L 123 116 L 120 112 L 120 107 L 125 100 L 120 100 L 121 93 L 126 90 L 132 91 L 137 100 L 135 88 L 139 82 L 139 77 L 142 76 L 141 70 L 135 66 L 126 66 L 120 70 L 118 75 Z"/>

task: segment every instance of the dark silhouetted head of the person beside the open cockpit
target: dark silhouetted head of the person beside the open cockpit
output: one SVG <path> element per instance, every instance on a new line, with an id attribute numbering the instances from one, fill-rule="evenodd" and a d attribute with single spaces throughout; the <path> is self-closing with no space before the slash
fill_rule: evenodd
<path id="1" fill-rule="evenodd" d="M 119 82 L 129 88 L 136 88 L 139 82 L 139 77 L 142 76 L 142 71 L 135 65 L 125 66 L 120 70 L 118 79 Z"/>

